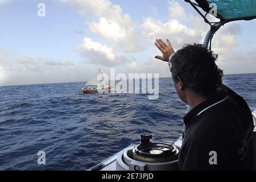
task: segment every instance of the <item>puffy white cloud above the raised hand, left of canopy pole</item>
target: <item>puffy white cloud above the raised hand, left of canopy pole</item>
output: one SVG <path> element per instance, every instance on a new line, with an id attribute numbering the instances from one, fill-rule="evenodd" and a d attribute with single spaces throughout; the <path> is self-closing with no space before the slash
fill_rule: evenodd
<path id="1" fill-rule="evenodd" d="M 174 48 L 180 48 L 185 43 L 202 42 L 203 32 L 205 33 L 207 28 L 202 18 L 185 14 L 185 10 L 177 1 L 169 1 L 168 10 L 170 19 L 166 22 L 151 17 L 144 19 L 142 23 L 144 42 L 152 44 L 157 38 L 169 38 Z M 184 24 L 179 20 L 179 18 L 186 19 L 186 17 L 190 17 L 190 23 Z M 190 24 L 190 27 L 187 24 Z M 197 26 L 200 28 L 196 29 Z"/>

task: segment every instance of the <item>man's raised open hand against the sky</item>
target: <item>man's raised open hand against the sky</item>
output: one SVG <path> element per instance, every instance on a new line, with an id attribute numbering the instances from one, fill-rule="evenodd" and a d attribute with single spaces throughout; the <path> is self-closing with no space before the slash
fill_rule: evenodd
<path id="1" fill-rule="evenodd" d="M 167 44 L 163 42 L 162 39 L 157 39 L 155 42 L 155 46 L 162 52 L 162 56 L 155 56 L 155 59 L 159 59 L 162 61 L 169 61 L 170 56 L 175 52 L 173 46 L 171 46 L 170 40 L 167 39 Z"/>

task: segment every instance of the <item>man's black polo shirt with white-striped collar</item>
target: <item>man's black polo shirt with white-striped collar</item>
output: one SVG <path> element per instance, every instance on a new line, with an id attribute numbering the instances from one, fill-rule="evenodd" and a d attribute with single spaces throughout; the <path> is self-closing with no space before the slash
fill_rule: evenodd
<path id="1" fill-rule="evenodd" d="M 253 118 L 242 97 L 223 85 L 183 118 L 181 170 L 253 169 Z"/>

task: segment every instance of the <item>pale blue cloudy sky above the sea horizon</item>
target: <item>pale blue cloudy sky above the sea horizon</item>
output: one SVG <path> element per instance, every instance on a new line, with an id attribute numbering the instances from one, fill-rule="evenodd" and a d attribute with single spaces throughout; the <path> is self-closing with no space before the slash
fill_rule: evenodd
<path id="1" fill-rule="evenodd" d="M 256 72 L 255 29 L 256 20 L 231 22 L 214 36 L 225 74 Z M 208 30 L 181 0 L 0 0 L 0 86 L 87 81 L 99 68 L 169 77 L 155 39 L 177 50 Z"/>

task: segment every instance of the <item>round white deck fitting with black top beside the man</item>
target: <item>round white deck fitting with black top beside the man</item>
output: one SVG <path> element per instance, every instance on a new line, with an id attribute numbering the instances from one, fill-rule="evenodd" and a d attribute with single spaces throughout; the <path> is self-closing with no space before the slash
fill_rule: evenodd
<path id="1" fill-rule="evenodd" d="M 141 135 L 141 144 L 126 148 L 117 156 L 118 171 L 178 170 L 179 148 L 169 142 L 150 142 L 151 134 Z"/>

